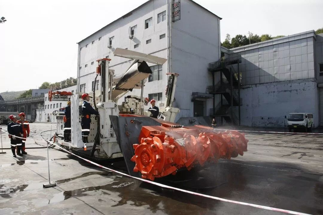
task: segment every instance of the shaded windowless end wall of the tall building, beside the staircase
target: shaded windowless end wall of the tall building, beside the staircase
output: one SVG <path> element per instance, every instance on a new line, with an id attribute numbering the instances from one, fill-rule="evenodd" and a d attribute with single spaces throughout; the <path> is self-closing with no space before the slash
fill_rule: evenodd
<path id="1" fill-rule="evenodd" d="M 175 92 L 175 107 L 180 117 L 193 116 L 192 92 L 205 93 L 212 85 L 208 64 L 220 56 L 220 18 L 196 6 L 190 0 L 181 0 L 181 20 L 172 24 L 172 73 L 179 73 Z M 201 99 L 205 100 L 205 99 Z M 213 108 L 213 99 L 206 99 L 204 115 Z"/>

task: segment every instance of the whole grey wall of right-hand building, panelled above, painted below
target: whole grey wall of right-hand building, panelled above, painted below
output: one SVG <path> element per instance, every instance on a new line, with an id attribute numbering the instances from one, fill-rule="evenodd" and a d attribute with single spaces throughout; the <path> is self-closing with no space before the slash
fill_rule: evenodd
<path id="1" fill-rule="evenodd" d="M 230 49 L 242 56 L 241 125 L 285 127 L 290 112 L 311 112 L 319 125 L 315 44 L 307 31 Z"/>

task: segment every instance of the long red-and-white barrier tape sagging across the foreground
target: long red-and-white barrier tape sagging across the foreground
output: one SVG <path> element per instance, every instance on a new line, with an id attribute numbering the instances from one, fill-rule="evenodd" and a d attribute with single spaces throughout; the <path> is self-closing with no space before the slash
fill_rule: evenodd
<path id="1" fill-rule="evenodd" d="M 209 198 L 209 199 L 220 200 L 220 201 L 225 201 L 225 202 L 230 202 L 230 203 L 240 204 L 240 205 L 247 205 L 247 206 L 251 206 L 251 207 L 255 207 L 255 208 L 260 208 L 260 209 L 265 209 L 265 210 L 272 210 L 272 211 L 277 211 L 277 212 L 281 212 L 281 213 L 296 214 L 296 215 L 310 215 L 310 214 L 307 214 L 307 213 L 301 213 L 301 212 L 296 212 L 296 211 L 292 211 L 292 210 L 284 210 L 284 209 L 273 208 L 273 207 L 262 206 L 262 205 L 256 205 L 256 204 L 251 204 L 251 203 L 246 203 L 246 202 L 241 202 L 241 201 L 223 199 L 223 198 L 219 198 L 219 197 L 215 197 L 215 196 L 209 196 L 209 195 L 205 195 L 205 194 L 202 194 L 202 193 L 197 193 L 197 192 L 187 191 L 187 190 L 183 190 L 183 189 L 176 188 L 176 187 L 171 187 L 171 186 L 168 186 L 168 185 L 164 185 L 164 184 L 157 183 L 157 182 L 154 182 L 154 181 L 145 180 L 145 179 L 142 179 L 142 178 L 137 178 L 137 177 L 128 175 L 126 173 L 119 172 L 119 171 L 110 169 L 108 167 L 102 166 L 102 165 L 97 164 L 97 163 L 95 163 L 93 161 L 89 161 L 89 160 L 87 160 L 85 158 L 82 158 L 82 157 L 80 157 L 80 156 L 78 156 L 78 155 L 76 155 L 76 154 L 74 154 L 74 153 L 72 153 L 70 151 L 67 151 L 66 149 L 58 146 L 56 143 L 54 143 L 52 141 L 49 141 L 49 140 L 47 140 L 47 141 L 50 142 L 53 145 L 56 145 L 58 148 L 62 149 L 63 151 L 66 151 L 69 154 L 72 154 L 72 155 L 74 155 L 74 156 L 76 156 L 76 157 L 78 157 L 78 158 L 80 158 L 80 159 L 82 159 L 84 161 L 92 163 L 92 164 L 94 164 L 96 166 L 99 166 L 99 167 L 101 167 L 103 169 L 113 171 L 113 172 L 119 173 L 121 175 L 130 177 L 130 178 L 133 178 L 133 179 L 137 179 L 137 180 L 144 181 L 144 182 L 147 182 L 147 183 L 150 183 L 150 184 L 154 184 L 154 185 L 159 186 L 159 187 L 168 188 L 168 189 L 172 189 L 172 190 L 177 190 L 177 191 L 181 191 L 181 192 L 185 192 L 185 193 L 190 193 L 190 194 L 197 195 L 197 196 L 203 196 L 203 197 Z"/>

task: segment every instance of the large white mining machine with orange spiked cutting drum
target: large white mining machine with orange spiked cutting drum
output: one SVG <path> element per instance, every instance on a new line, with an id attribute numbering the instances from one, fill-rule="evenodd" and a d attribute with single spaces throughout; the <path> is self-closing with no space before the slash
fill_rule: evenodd
<path id="1" fill-rule="evenodd" d="M 109 70 L 110 59 L 97 60 L 97 75 L 101 78 L 100 91 L 93 96 L 91 105 L 99 117 L 91 115 L 89 143 L 84 148 L 81 139 L 79 106 L 80 94 L 50 92 L 50 100 L 71 101 L 71 141 L 63 141 L 63 119 L 57 116 L 57 132 L 54 142 L 80 156 L 111 160 L 124 157 L 129 174 L 154 180 L 175 175 L 179 169 L 192 169 L 195 165 L 230 159 L 247 151 L 244 134 L 236 131 L 215 132 L 212 128 L 195 125 L 182 126 L 174 123 L 179 109 L 172 107 L 178 74 L 167 73 L 166 108 L 161 109 L 158 119 L 144 111 L 144 83 L 152 73 L 146 62 L 164 64 L 167 59 L 117 48 L 115 56 L 133 59 L 128 70 L 116 77 Z M 117 102 L 125 93 L 141 89 L 141 96 L 127 96 L 118 107 Z M 85 150 L 86 149 L 86 150 Z"/>

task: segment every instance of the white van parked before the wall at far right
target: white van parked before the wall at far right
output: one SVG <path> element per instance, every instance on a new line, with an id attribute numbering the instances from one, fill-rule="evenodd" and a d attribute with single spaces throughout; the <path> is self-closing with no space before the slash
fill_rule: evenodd
<path id="1" fill-rule="evenodd" d="M 313 113 L 289 113 L 287 117 L 287 126 L 289 132 L 292 129 L 305 129 L 305 132 L 311 131 L 313 125 Z"/>

